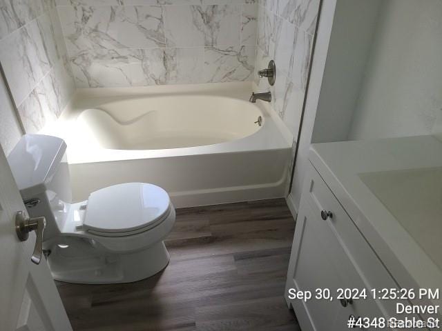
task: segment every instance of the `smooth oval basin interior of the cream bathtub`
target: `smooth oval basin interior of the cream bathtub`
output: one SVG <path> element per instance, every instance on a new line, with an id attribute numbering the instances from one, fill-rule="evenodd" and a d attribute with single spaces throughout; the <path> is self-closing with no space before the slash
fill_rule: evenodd
<path id="1" fill-rule="evenodd" d="M 206 146 L 257 132 L 260 108 L 229 97 L 179 95 L 103 103 L 83 110 L 77 128 L 84 139 L 114 150 Z"/>

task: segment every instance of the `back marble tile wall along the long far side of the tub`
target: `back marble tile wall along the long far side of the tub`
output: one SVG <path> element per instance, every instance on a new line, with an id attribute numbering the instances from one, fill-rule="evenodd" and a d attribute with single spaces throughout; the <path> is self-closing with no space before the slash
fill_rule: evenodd
<path id="1" fill-rule="evenodd" d="M 247 81 L 258 0 L 55 0 L 78 88 Z"/>

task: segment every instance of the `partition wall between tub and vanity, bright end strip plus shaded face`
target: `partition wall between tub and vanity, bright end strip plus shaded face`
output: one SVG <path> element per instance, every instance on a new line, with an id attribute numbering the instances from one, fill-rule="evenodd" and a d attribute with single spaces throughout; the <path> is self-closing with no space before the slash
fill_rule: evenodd
<path id="1" fill-rule="evenodd" d="M 307 92 L 289 205 L 297 209 L 311 143 L 347 140 L 380 0 L 326 0 Z"/>

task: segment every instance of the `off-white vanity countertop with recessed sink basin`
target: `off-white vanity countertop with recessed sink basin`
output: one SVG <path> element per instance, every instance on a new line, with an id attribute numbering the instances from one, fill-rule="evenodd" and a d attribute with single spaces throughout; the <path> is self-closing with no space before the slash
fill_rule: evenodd
<path id="1" fill-rule="evenodd" d="M 401 288 L 442 288 L 441 141 L 316 143 L 309 159 Z"/>

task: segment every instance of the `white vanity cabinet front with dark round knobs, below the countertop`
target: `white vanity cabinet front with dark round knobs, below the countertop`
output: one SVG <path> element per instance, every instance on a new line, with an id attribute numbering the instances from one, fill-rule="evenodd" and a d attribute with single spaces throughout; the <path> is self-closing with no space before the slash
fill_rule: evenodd
<path id="1" fill-rule="evenodd" d="M 311 291 L 314 296 L 317 289 L 328 289 L 334 299 L 291 300 L 291 288 Z M 339 288 L 365 288 L 367 299 L 341 302 L 336 298 Z M 370 290 L 382 288 L 398 288 L 398 285 L 320 174 L 309 164 L 285 291 L 286 301 L 294 308 L 302 331 L 346 330 L 350 315 L 386 319 L 395 316 L 398 301 L 371 297 Z"/>

